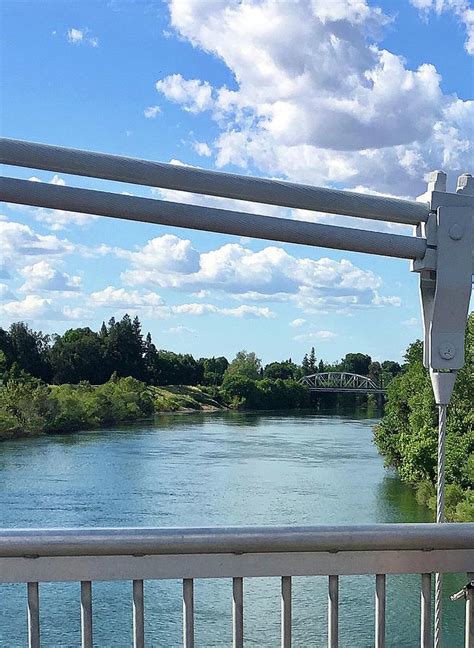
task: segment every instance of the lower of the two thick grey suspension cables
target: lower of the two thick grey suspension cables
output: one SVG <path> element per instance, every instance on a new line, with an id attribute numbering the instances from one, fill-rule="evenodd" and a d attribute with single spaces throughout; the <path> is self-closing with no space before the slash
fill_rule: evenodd
<path id="1" fill-rule="evenodd" d="M 426 239 L 413 236 L 259 216 L 16 178 L 0 179 L 0 200 L 207 232 L 369 252 L 399 259 L 422 259 L 427 248 Z"/>

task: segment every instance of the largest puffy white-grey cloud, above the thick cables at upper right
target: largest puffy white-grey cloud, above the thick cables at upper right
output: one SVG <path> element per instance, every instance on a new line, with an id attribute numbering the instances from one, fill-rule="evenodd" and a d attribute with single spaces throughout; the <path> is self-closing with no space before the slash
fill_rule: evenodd
<path id="1" fill-rule="evenodd" d="M 174 74 L 157 83 L 184 110 L 208 111 L 219 166 L 416 196 L 430 169 L 462 171 L 473 157 L 473 102 L 443 95 L 433 65 L 412 70 L 382 49 L 389 18 L 365 0 L 171 0 L 169 8 L 178 35 L 236 80 L 214 87 Z"/>

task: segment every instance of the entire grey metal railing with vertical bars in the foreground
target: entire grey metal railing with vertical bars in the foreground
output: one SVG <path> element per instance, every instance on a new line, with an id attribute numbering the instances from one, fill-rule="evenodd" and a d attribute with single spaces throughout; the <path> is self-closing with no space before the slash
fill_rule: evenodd
<path id="1" fill-rule="evenodd" d="M 431 574 L 474 572 L 474 524 L 217 529 L 8 529 L 0 582 L 27 584 L 29 647 L 40 647 L 41 582 L 81 583 L 82 648 L 93 646 L 92 583 L 132 582 L 133 646 L 145 646 L 145 580 L 183 581 L 183 646 L 194 646 L 194 580 L 232 579 L 233 646 L 244 645 L 244 579 L 281 579 L 281 646 L 292 641 L 292 577 L 328 577 L 328 647 L 339 645 L 339 577 L 375 575 L 375 646 L 385 646 L 387 574 L 420 574 L 420 646 L 432 646 Z M 230 602 L 229 602 L 230 604 Z M 472 589 L 465 647 L 474 647 Z"/>

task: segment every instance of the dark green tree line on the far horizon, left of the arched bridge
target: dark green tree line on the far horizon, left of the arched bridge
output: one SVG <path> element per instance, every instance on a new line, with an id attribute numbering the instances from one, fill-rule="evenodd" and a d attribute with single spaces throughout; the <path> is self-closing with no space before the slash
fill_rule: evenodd
<path id="1" fill-rule="evenodd" d="M 301 364 L 289 359 L 263 367 L 256 355 L 249 353 L 245 361 L 238 354 L 235 366 L 253 380 L 299 380 L 317 371 L 349 371 L 388 384 L 401 372 L 397 362 L 373 362 L 363 353 L 348 353 L 337 363 L 318 361 L 314 347 Z M 82 381 L 102 385 L 116 375 L 158 386 L 220 386 L 229 367 L 223 356 L 195 359 L 191 354 L 157 348 L 150 333 L 143 335 L 139 318 L 129 315 L 120 320 L 112 317 L 98 331 L 72 328 L 63 335 L 45 335 L 24 322 L 16 322 L 8 330 L 0 328 L 0 373 L 16 368 L 53 385 Z M 235 374 L 235 369 L 230 373 Z"/>

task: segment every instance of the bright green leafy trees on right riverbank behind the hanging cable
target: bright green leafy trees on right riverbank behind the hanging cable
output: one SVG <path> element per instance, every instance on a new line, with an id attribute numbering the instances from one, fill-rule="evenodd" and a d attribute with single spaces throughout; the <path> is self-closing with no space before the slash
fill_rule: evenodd
<path id="1" fill-rule="evenodd" d="M 420 503 L 436 510 L 438 413 L 420 340 L 408 347 L 403 372 L 388 387 L 385 413 L 375 443 L 387 466 L 416 489 Z M 448 408 L 446 514 L 474 521 L 474 313 L 466 329 L 464 367 Z"/>

